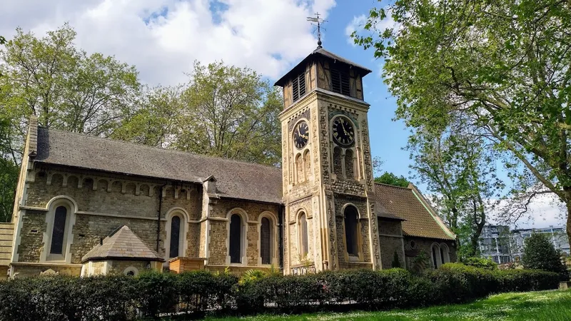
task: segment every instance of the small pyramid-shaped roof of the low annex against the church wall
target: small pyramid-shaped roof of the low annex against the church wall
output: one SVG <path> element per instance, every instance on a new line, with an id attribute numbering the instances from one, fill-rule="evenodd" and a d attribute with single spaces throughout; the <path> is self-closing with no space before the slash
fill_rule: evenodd
<path id="1" fill-rule="evenodd" d="M 81 258 L 81 262 L 108 259 L 164 261 L 126 225 L 106 237 L 103 244 L 92 248 Z"/>

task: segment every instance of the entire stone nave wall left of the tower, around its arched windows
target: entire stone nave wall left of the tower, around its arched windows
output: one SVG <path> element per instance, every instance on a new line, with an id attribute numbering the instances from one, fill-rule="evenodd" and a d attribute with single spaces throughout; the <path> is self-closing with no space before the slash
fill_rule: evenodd
<path id="1" fill-rule="evenodd" d="M 278 264 L 282 250 L 278 244 L 279 205 L 253 203 L 241 200 L 221 199 L 208 205 L 203 202 L 201 185 L 172 184 L 153 179 L 133 178 L 111 173 L 78 171 L 59 166 L 39 165 L 31 170 L 34 180 L 27 190 L 24 215 L 21 223 L 21 237 L 17 253 L 19 262 L 39 263 L 44 250 L 45 235 L 48 235 L 46 215 L 49 202 L 65 197 L 76 204 L 75 223 L 71 227 L 69 263 L 81 263 L 81 258 L 106 238 L 113 230 L 127 225 L 149 248 L 156 250 L 157 226 L 158 253 L 165 255 L 166 224 L 172 210 L 186 213 L 189 220 L 186 234 L 187 257 L 207 257 L 211 265 L 227 265 L 227 215 L 230 210 L 241 208 L 246 218 L 246 262 L 244 265 L 258 265 L 259 221 L 262 213 L 269 214 L 273 222 L 274 264 Z M 165 183 L 167 183 L 165 185 Z M 163 192 L 161 192 L 163 188 Z M 157 224 L 159 198 L 161 218 Z M 203 206 L 208 210 L 203 210 Z M 74 205 L 71 205 L 72 207 Z M 209 216 L 208 224 L 206 215 Z M 207 228 L 208 226 L 208 228 Z M 208 238 L 207 233 L 211 237 Z M 206 253 L 206 241 L 208 253 Z M 65 248 L 65 247 L 64 247 Z M 124 270 L 124 269 L 123 269 Z"/>

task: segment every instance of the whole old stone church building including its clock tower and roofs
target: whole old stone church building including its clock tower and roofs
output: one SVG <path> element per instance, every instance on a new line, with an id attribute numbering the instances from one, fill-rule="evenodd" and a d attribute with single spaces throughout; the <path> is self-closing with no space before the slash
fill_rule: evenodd
<path id="1" fill-rule="evenodd" d="M 283 87 L 282 168 L 41 128 L 31 118 L 10 277 L 146 269 L 285 274 L 455 261 L 455 235 L 410 184 L 373 182 L 368 68 L 321 46 Z"/>

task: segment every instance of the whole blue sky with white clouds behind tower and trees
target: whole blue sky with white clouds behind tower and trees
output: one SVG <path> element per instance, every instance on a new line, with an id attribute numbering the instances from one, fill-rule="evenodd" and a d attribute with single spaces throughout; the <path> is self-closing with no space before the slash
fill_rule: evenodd
<path id="1" fill-rule="evenodd" d="M 396 103 L 383 83 L 380 60 L 355 46 L 348 36 L 360 30 L 374 0 L 4 0 L 0 35 L 11 39 L 16 27 L 44 36 L 65 22 L 76 30 L 76 45 L 115 56 L 136 66 L 148 85 L 186 81 L 193 61 L 224 61 L 247 66 L 276 81 L 317 46 L 307 16 L 327 21 L 323 47 L 373 71 L 363 79 L 370 103 L 370 143 L 383 170 L 409 177 L 410 159 L 402 148 L 409 131 L 393 121 Z M 390 21 L 384 21 L 390 24 Z M 422 190 L 425 184 L 413 181 Z M 518 228 L 562 225 L 561 210 L 547 198 L 530 206 L 533 220 Z"/>

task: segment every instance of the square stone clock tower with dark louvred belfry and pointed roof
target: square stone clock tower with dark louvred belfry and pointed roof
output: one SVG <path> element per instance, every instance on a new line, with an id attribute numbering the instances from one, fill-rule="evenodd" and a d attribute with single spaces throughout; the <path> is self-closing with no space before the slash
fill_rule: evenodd
<path id="1" fill-rule="evenodd" d="M 318 46 L 276 82 L 283 159 L 284 272 L 380 269 L 363 76 Z"/>

